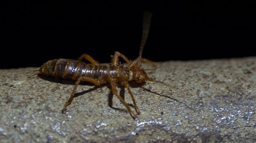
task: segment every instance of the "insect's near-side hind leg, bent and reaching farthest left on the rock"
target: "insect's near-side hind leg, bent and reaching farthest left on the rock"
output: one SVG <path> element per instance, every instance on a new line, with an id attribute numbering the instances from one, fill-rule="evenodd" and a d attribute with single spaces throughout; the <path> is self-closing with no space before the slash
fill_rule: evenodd
<path id="1" fill-rule="evenodd" d="M 78 78 L 78 80 L 76 81 L 76 84 L 75 84 L 75 86 L 74 86 L 74 88 L 73 88 L 73 91 L 72 91 L 71 96 L 69 97 L 68 101 L 65 103 L 65 105 L 64 105 L 64 107 L 63 107 L 63 109 L 62 109 L 62 111 L 61 111 L 62 113 L 64 113 L 65 108 L 66 108 L 68 105 L 71 104 L 71 102 L 72 102 L 72 100 L 73 100 L 73 98 L 74 98 L 74 96 L 75 96 L 76 88 L 77 88 L 78 84 L 80 83 L 80 81 L 91 82 L 91 83 L 95 84 L 96 86 L 99 86 L 100 84 L 102 84 L 100 81 L 98 81 L 98 80 L 96 80 L 96 79 L 94 79 L 94 78 L 83 77 L 83 76 L 80 77 L 80 78 Z"/>

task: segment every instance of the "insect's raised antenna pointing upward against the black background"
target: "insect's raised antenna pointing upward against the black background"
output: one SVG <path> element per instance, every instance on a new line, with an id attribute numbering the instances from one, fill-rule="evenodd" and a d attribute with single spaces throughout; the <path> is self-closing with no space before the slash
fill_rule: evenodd
<path id="1" fill-rule="evenodd" d="M 142 56 L 143 48 L 148 39 L 151 18 L 152 18 L 152 13 L 149 11 L 145 11 L 143 14 L 143 31 L 142 31 L 142 38 L 141 38 L 141 46 L 139 48 L 139 58 L 141 58 Z"/>

